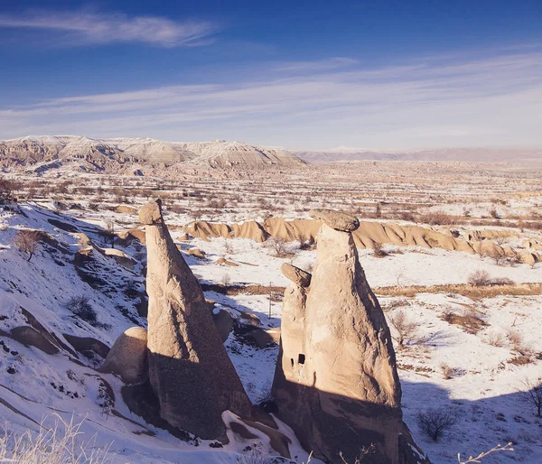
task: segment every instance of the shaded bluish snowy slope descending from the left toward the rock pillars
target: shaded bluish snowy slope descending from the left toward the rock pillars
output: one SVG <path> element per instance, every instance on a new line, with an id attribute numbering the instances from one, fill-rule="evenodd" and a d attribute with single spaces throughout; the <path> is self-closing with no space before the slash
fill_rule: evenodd
<path id="1" fill-rule="evenodd" d="M 87 440 L 96 435 L 94 446 L 109 447 L 109 459 L 119 463 L 233 464 L 239 453 L 251 459 L 253 450 L 264 455 L 274 452 L 268 438 L 256 431 L 258 439 L 239 441 L 230 435 L 229 444 L 221 448 L 211 447 L 212 441 L 179 441 L 127 409 L 120 394 L 122 382 L 116 376 L 98 373 L 95 367 L 102 357 L 89 349 L 78 351 L 79 345 L 69 336 L 91 338 L 110 347 L 125 329 L 145 326 L 145 319 L 136 311 L 144 280 L 143 263 L 136 262 L 132 269 L 117 264 L 99 252 L 108 242 L 98 227 L 52 208 L 51 204 L 25 204 L 20 209 L 0 210 L 0 418 L 9 424 L 7 430 L 37 432 L 39 423 L 54 422 L 54 414 L 68 422 L 73 417 L 75 422 L 84 421 L 81 437 Z M 13 245 L 17 232 L 25 228 L 47 233 L 30 262 Z M 78 235 L 81 233 L 95 246 L 85 243 Z M 123 251 L 141 257 L 141 249 L 132 244 Z M 81 251 L 89 255 L 83 259 L 78 255 Z M 96 322 L 82 320 L 72 311 L 70 299 L 81 294 L 89 297 L 98 313 Z M 58 353 L 45 354 L 8 335 L 14 328 L 40 324 L 42 333 L 56 338 L 53 342 Z M 232 339 L 228 343 L 236 342 Z M 268 365 L 275 362 L 274 349 L 258 353 L 256 348 L 246 348 L 244 352 L 249 364 L 255 366 L 254 361 L 264 352 Z M 242 360 L 236 364 L 246 374 L 247 385 L 248 376 L 255 373 L 248 372 Z M 260 386 L 251 389 L 254 399 Z M 228 421 L 229 413 L 225 414 Z M 299 462 L 306 460 L 307 454 L 296 444 L 293 433 L 284 424 L 279 427 L 293 440 L 294 456 Z M 245 450 L 248 445 L 250 452 Z"/>

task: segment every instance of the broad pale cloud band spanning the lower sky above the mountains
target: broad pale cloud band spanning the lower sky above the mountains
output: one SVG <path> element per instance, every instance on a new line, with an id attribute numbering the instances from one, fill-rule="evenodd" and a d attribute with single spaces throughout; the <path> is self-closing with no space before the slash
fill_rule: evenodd
<path id="1" fill-rule="evenodd" d="M 301 75 L 267 66 L 274 72 L 266 76 L 274 79 L 0 107 L 0 137 L 70 132 L 373 148 L 542 144 L 538 51 L 374 69 L 355 63 L 344 70 L 309 67 Z"/>

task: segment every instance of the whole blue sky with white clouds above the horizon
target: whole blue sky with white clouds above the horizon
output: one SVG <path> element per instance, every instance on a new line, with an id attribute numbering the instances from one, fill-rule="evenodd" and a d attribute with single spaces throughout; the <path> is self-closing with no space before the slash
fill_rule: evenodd
<path id="1" fill-rule="evenodd" d="M 540 0 L 0 2 L 0 139 L 542 146 Z"/>

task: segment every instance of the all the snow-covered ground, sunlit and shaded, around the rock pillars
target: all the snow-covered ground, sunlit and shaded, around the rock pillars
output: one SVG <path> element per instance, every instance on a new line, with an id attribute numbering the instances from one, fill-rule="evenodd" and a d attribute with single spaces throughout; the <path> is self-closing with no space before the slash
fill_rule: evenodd
<path id="1" fill-rule="evenodd" d="M 55 221 L 77 227 L 103 247 L 107 242 L 92 225 L 98 223 L 102 212 L 81 212 L 81 218 L 76 219 L 42 207 L 23 206 L 22 213 L 4 212 L 0 218 L 0 329 L 8 332 L 28 325 L 22 308 L 51 333 L 92 337 L 108 346 L 135 323 L 145 326 L 132 296 L 143 282 L 143 263 L 138 260 L 145 248 L 123 248 L 127 255 L 136 258 L 133 269 L 93 251 L 92 265 L 86 264 L 85 269 L 107 276 L 107 285 L 90 284 L 92 281 L 88 277 L 87 281 L 82 279 L 81 269 L 73 264 L 79 238 L 59 228 Z M 123 218 L 113 213 L 107 215 Z M 123 220 L 129 223 L 135 218 Z M 26 256 L 13 246 L 14 235 L 21 227 L 45 230 L 60 246 L 40 246 L 28 263 Z M 178 231 L 173 231 L 173 237 L 179 236 Z M 301 251 L 298 245 L 290 244 L 291 256 L 279 258 L 265 243 L 249 239 L 182 242 L 183 250 L 199 248 L 206 253 L 204 259 L 185 255 L 202 283 L 261 286 L 285 286 L 288 281 L 280 272 L 285 262 L 310 269 L 315 251 Z M 375 257 L 370 250 L 360 250 L 360 262 L 374 289 L 466 283 L 469 275 L 479 269 L 491 277 L 506 277 L 515 283 L 542 282 L 542 264 L 498 266 L 489 258 L 463 252 L 392 246 L 384 249 L 392 252 L 384 258 Z M 238 265 L 217 264 L 220 257 Z M 70 310 L 67 302 L 82 293 L 97 311 L 98 324 L 90 325 Z M 280 326 L 281 302 L 270 302 L 267 294 L 224 295 L 209 291 L 206 297 L 224 308 L 253 313 L 265 327 Z M 405 348 L 396 347 L 403 411 L 417 443 L 435 464 L 456 462 L 458 452 L 463 456 L 475 455 L 509 441 L 514 442 L 513 452 L 492 454 L 484 462 L 542 462 L 542 420 L 519 394 L 525 379 L 536 381 L 542 377 L 542 295 L 472 300 L 453 290 L 435 293 L 428 288 L 414 297 L 378 299 L 388 320 L 403 311 L 408 320 L 416 322 L 415 333 L 406 339 Z M 450 314 L 475 314 L 481 325 L 477 331 L 468 331 L 447 321 Z M 392 333 L 395 334 L 393 327 Z M 112 442 L 110 450 L 116 462 L 233 463 L 238 462 L 238 453 L 247 445 L 233 437 L 229 445 L 220 449 L 210 448 L 206 441 L 200 441 L 199 446 L 179 441 L 128 411 L 119 393 L 120 380 L 98 375 L 93 369 L 99 358 L 88 359 L 79 354 L 75 361 L 66 354 L 46 355 L 14 339 L 0 339 L 4 342 L 4 349 L 0 350 L 0 417 L 15 432 L 36 430 L 33 421 L 40 422 L 42 416 L 54 411 L 65 418 L 73 413 L 77 418 L 86 418 L 83 430 L 89 436 L 96 433 L 98 445 Z M 264 398 L 273 379 L 278 348 L 244 345 L 233 334 L 226 348 L 250 398 L 254 402 Z M 528 353 L 528 362 L 519 359 L 519 350 Z M 450 369 L 450 378 L 444 378 L 444 364 Z M 106 384 L 116 396 L 114 408 L 118 415 L 107 404 Z M 417 414 L 429 407 L 449 409 L 458 417 L 453 429 L 436 443 L 428 440 L 416 424 Z M 266 450 L 265 439 L 261 441 Z M 294 455 L 298 462 L 306 461 L 302 450 L 295 450 Z"/>

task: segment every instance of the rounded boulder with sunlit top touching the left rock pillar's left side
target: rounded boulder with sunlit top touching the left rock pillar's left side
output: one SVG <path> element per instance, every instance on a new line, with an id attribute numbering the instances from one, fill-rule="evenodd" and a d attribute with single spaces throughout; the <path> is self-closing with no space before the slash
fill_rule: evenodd
<path id="1" fill-rule="evenodd" d="M 125 384 L 139 384 L 148 378 L 147 331 L 142 327 L 126 329 L 118 337 L 100 368 L 120 376 Z"/>

